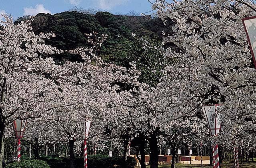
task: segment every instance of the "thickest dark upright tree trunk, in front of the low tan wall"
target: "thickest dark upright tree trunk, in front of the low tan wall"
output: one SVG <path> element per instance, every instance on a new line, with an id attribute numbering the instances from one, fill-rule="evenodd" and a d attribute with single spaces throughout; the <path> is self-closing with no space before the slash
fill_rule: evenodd
<path id="1" fill-rule="evenodd" d="M 150 168 L 158 168 L 158 146 L 156 134 L 150 136 Z"/>

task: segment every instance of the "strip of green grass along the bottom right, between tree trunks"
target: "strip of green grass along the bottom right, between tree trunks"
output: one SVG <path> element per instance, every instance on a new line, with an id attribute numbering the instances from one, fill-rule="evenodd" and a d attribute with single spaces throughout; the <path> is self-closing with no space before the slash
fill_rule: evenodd
<path id="1" fill-rule="evenodd" d="M 147 166 L 149 168 L 150 166 Z M 170 168 L 170 165 L 158 165 L 158 168 Z M 198 164 L 175 164 L 175 168 L 212 168 L 209 164 L 203 166 Z M 233 168 L 232 163 L 222 163 L 221 168 Z M 239 163 L 239 168 L 256 168 L 256 162 Z"/>

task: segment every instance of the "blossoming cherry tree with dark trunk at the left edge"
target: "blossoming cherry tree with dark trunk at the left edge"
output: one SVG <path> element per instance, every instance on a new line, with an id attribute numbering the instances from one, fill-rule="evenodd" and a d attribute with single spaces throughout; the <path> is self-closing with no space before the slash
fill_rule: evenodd
<path id="1" fill-rule="evenodd" d="M 54 34 L 32 32 L 31 20 L 14 24 L 12 16 L 3 15 L 0 29 L 0 167 L 4 156 L 4 131 L 17 118 L 35 118 L 44 104 L 55 99 L 54 78 L 59 70 L 50 54 L 61 51 L 44 44 Z"/>

